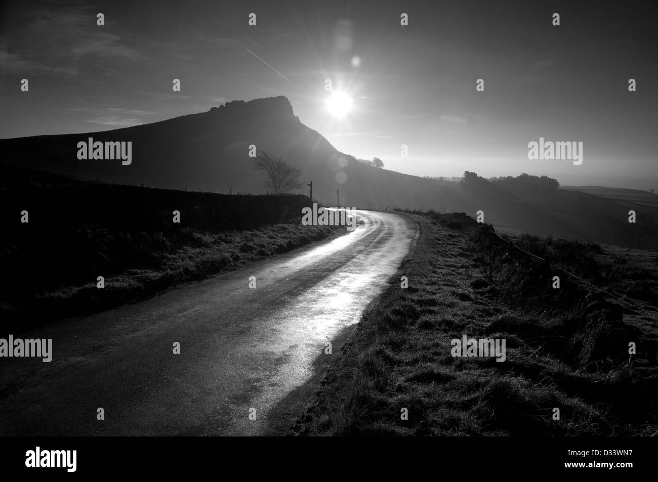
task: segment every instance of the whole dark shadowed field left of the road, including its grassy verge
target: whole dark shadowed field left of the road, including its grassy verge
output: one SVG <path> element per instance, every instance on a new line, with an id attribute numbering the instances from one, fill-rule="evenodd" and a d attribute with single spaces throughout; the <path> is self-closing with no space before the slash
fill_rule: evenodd
<path id="1" fill-rule="evenodd" d="M 5 164 L 0 198 L 0 316 L 18 330 L 138 301 L 340 229 L 301 226 L 301 195 L 105 184 Z M 28 223 L 14 216 L 22 210 Z"/>

